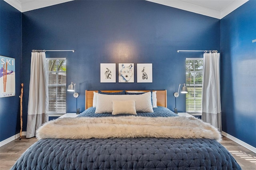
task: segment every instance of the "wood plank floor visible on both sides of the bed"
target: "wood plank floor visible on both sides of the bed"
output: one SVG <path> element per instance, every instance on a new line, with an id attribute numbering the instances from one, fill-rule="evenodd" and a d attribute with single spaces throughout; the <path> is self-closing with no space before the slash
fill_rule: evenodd
<path id="1" fill-rule="evenodd" d="M 20 155 L 34 142 L 36 138 L 25 138 L 14 140 L 0 147 L 0 169 L 9 170 Z M 256 170 L 256 153 L 244 148 L 223 136 L 221 144 L 225 146 L 236 159 L 243 170 Z"/>

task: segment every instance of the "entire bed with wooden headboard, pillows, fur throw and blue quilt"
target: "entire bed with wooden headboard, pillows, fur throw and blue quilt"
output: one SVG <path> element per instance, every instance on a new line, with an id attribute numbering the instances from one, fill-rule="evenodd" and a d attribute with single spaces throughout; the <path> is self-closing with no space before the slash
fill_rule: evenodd
<path id="1" fill-rule="evenodd" d="M 40 127 L 39 140 L 11 169 L 241 169 L 219 143 L 218 130 L 166 108 L 166 90 L 96 92 L 86 91 L 86 110 L 78 117 L 56 119 Z M 106 97 L 108 101 L 102 100 Z M 146 102 L 139 103 L 144 97 Z M 107 107 L 117 114 L 108 113 Z"/>

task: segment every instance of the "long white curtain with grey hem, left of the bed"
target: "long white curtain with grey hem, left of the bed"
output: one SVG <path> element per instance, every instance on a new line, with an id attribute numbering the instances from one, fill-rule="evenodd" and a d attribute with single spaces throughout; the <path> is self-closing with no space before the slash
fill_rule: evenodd
<path id="1" fill-rule="evenodd" d="M 27 138 L 48 121 L 48 78 L 44 52 L 31 53 Z"/>

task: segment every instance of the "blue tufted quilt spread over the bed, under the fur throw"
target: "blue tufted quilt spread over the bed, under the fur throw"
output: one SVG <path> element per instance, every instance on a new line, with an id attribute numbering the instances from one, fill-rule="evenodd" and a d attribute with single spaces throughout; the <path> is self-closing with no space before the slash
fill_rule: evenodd
<path id="1" fill-rule="evenodd" d="M 138 116 L 177 116 L 172 111 L 158 115 L 157 110 L 166 108 L 158 107 L 150 115 Z M 79 117 L 112 116 L 94 111 L 90 108 Z M 224 146 L 204 138 L 41 139 L 17 160 L 12 167 L 16 169 L 241 170 Z"/>

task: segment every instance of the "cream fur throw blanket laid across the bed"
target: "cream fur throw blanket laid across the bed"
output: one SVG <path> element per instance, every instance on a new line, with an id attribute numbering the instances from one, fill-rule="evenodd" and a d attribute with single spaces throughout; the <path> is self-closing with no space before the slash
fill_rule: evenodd
<path id="1" fill-rule="evenodd" d="M 36 131 L 44 138 L 209 138 L 221 140 L 217 128 L 190 117 L 79 117 L 49 121 Z"/>

